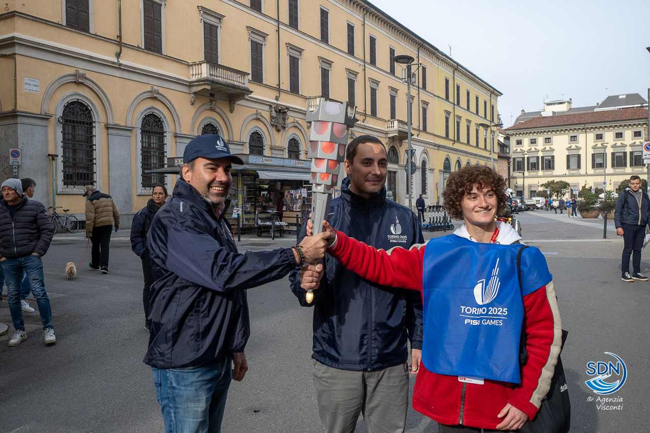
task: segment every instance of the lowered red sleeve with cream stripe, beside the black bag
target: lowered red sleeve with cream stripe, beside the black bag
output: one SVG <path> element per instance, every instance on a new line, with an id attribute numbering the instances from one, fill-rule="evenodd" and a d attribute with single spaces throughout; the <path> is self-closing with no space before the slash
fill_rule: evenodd
<path id="1" fill-rule="evenodd" d="M 549 392 L 562 348 L 562 322 L 553 283 L 524 296 L 524 310 L 528 359 L 522 369 L 521 385 L 512 391 L 508 403 L 532 419 Z"/>

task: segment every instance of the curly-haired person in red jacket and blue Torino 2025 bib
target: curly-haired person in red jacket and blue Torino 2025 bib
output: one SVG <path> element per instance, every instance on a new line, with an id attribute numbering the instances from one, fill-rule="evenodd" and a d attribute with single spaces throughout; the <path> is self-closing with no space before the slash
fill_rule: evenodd
<path id="1" fill-rule="evenodd" d="M 487 166 L 452 173 L 444 206 L 465 224 L 409 250 L 376 250 L 324 222 L 335 239 L 328 253 L 345 267 L 372 282 L 422 292 L 413 408 L 437 421 L 441 433 L 521 428 L 547 395 L 560 353 L 562 326 L 545 258 L 494 220 L 505 189 Z M 317 270 L 305 270 L 304 289 L 317 287 Z M 520 366 L 522 337 L 528 356 Z"/>

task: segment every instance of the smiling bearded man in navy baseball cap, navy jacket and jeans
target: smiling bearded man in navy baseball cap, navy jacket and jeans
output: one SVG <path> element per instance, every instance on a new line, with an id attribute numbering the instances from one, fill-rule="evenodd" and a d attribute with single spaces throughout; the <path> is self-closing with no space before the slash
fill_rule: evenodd
<path id="1" fill-rule="evenodd" d="M 239 254 L 224 213 L 232 164 L 243 161 L 222 137 L 200 135 L 187 144 L 183 162 L 172 198 L 147 235 L 154 283 L 144 363 L 151 365 L 167 432 L 218 432 L 230 382 L 248 370 L 245 289 L 315 263 L 328 235 Z"/>

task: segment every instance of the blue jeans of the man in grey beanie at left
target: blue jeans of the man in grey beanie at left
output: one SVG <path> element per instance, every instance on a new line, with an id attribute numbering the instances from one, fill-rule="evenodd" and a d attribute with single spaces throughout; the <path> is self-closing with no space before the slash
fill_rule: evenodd
<path id="1" fill-rule="evenodd" d="M 29 256 L 19 257 L 18 259 L 5 259 L 2 262 L 2 269 L 5 272 L 6 291 L 9 298 L 9 312 L 11 320 L 14 322 L 14 329 L 17 331 L 25 330 L 23 322 L 23 310 L 20 305 L 21 283 L 20 277 L 23 271 L 27 273 L 26 280 L 32 288 L 38 312 L 41 315 L 43 329 L 53 328 L 52 326 L 52 309 L 49 306 L 49 298 L 45 292 L 45 283 L 43 281 L 43 261 L 40 257 Z"/>

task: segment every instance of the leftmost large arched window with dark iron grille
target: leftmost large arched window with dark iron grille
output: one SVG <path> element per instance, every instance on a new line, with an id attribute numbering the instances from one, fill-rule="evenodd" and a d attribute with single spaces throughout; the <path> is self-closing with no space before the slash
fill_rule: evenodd
<path id="1" fill-rule="evenodd" d="M 59 118 L 62 126 L 63 185 L 95 183 L 95 123 L 90 107 L 70 101 Z"/>

